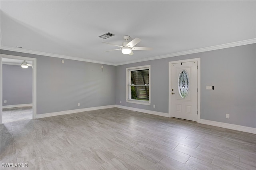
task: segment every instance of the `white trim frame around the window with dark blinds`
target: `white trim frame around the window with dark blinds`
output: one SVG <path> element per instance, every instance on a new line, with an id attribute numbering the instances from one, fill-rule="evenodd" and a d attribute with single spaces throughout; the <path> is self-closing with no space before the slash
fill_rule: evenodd
<path id="1" fill-rule="evenodd" d="M 130 92 L 130 71 L 136 71 L 136 70 L 142 70 L 142 69 L 148 69 L 148 77 L 149 77 L 149 91 L 148 91 L 148 96 L 149 100 L 148 101 L 142 101 L 142 100 L 134 100 L 134 99 L 129 99 L 131 92 Z M 135 104 L 141 104 L 141 105 L 150 105 L 151 101 L 151 66 L 150 65 L 142 65 L 142 66 L 137 66 L 137 67 L 129 67 L 126 68 L 126 102 L 127 103 L 135 103 Z"/>

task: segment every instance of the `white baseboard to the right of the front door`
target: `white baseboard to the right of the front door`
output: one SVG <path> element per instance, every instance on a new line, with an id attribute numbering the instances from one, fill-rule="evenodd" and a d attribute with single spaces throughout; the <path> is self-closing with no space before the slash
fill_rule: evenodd
<path id="1" fill-rule="evenodd" d="M 205 125 L 212 125 L 212 126 L 216 126 L 216 127 L 228 128 L 228 129 L 232 129 L 232 130 L 238 130 L 238 131 L 242 131 L 242 132 L 248 132 L 248 133 L 256 134 L 256 128 L 252 128 L 252 127 L 244 127 L 244 126 L 241 126 L 241 125 L 234 125 L 234 124 L 230 124 L 230 123 L 209 121 L 209 120 L 205 120 L 205 119 L 201 119 L 200 123 L 205 124 Z"/>

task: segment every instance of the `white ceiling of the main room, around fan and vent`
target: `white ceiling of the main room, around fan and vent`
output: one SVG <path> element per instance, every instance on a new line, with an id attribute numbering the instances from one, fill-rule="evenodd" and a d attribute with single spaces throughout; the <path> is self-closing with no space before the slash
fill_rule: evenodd
<path id="1" fill-rule="evenodd" d="M 256 1 L 4 1 L 1 49 L 112 65 L 256 38 Z M 111 32 L 116 36 L 99 38 Z M 123 36 L 152 51 L 110 51 Z M 18 48 L 22 47 L 22 48 Z"/>

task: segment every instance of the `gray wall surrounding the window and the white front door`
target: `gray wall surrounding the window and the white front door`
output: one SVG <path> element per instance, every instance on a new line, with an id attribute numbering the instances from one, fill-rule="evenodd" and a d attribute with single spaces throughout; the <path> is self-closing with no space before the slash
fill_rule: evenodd
<path id="1" fill-rule="evenodd" d="M 168 113 L 168 62 L 198 57 L 201 119 L 256 128 L 256 44 L 117 66 L 116 104 Z M 126 68 L 141 65 L 151 65 L 150 106 L 126 103 Z"/>

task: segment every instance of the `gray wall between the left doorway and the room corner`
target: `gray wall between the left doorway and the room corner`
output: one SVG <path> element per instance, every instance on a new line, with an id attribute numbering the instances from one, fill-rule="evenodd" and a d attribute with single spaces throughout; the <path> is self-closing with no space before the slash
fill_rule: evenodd
<path id="1" fill-rule="evenodd" d="M 1 50 L 37 59 L 37 114 L 116 104 L 116 67 Z M 80 103 L 80 106 L 78 106 Z"/>

